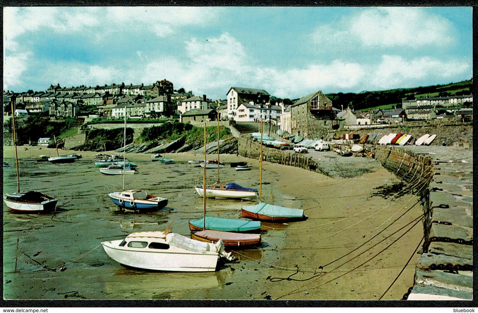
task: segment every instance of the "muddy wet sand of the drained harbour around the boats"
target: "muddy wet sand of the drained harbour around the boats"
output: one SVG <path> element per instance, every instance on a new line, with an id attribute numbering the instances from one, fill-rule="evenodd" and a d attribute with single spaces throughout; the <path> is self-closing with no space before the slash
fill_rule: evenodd
<path id="1" fill-rule="evenodd" d="M 262 245 L 235 250 L 238 260 L 217 272 L 167 273 L 125 268 L 106 255 L 98 246 L 100 242 L 119 239 L 131 232 L 163 230 L 173 221 L 171 231 L 189 235 L 187 222 L 202 217 L 203 200 L 193 189 L 196 179 L 202 181 L 202 168 L 190 168 L 187 160 L 203 156 L 167 154 L 177 163 L 164 165 L 152 162 L 151 155 L 128 154 L 138 164 L 139 173 L 126 176 L 125 188 L 144 189 L 169 200 L 166 210 L 138 214 L 118 212 L 109 200 L 105 185 L 114 184 L 119 187 L 117 190 L 121 189 L 123 177 L 103 175 L 94 168 L 96 152 L 79 152 L 83 158 L 74 164 L 50 164 L 27 159 L 56 156 L 54 149 L 30 146 L 28 149 L 18 148 L 21 190 L 39 190 L 55 197 L 58 212 L 17 214 L 4 205 L 5 299 L 378 300 L 423 235 L 419 223 L 390 248 L 366 262 L 403 231 L 373 245 L 421 214 L 421 208 L 414 206 L 397 223 L 365 243 L 417 201 L 410 194 L 396 199 L 372 196 L 376 188 L 398 182 L 377 166 L 376 160 L 370 159 L 371 173 L 351 179 L 332 179 L 264 162 L 262 201 L 302 208 L 309 216 L 306 221 L 263 223 Z M 75 152 L 60 152 L 70 153 Z M 208 156 L 213 157 L 216 156 Z M 4 192 L 14 192 L 13 147 L 4 147 L 4 159 L 12 163 L 10 168 L 4 168 Z M 354 158 L 346 159 L 348 165 L 354 162 Z M 238 160 L 247 160 L 252 170 L 236 172 L 228 167 L 227 163 Z M 220 171 L 221 181 L 259 189 L 258 160 L 221 155 L 221 161 L 227 164 Z M 207 182 L 216 180 L 217 170 L 208 170 Z M 208 200 L 207 212 L 210 216 L 240 218 L 241 205 L 257 202 L 257 199 Z M 359 255 L 369 247 L 372 248 Z M 342 258 L 328 264 L 339 257 Z M 412 258 L 384 300 L 401 299 L 413 285 L 418 257 L 416 254 Z M 43 268 L 65 263 L 64 271 Z M 353 268 L 357 269 L 351 271 Z"/>

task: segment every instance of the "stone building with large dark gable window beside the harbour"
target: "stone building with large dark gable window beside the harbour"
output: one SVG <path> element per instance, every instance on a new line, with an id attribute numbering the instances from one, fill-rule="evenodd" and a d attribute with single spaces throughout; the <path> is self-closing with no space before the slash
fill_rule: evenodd
<path id="1" fill-rule="evenodd" d="M 291 134 L 321 138 L 338 125 L 334 118 L 332 101 L 318 90 L 291 105 Z"/>

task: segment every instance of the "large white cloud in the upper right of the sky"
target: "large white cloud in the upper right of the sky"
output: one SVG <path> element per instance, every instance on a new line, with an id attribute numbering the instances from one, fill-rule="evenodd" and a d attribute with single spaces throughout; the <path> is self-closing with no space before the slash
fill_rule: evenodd
<path id="1" fill-rule="evenodd" d="M 383 7 L 360 11 L 340 21 L 317 27 L 312 38 L 318 49 L 362 47 L 449 46 L 454 44 L 453 26 L 426 8 Z"/>

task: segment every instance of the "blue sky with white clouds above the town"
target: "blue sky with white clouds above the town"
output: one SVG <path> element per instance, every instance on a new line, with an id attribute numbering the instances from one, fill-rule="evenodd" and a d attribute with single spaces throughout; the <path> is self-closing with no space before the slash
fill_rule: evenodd
<path id="1" fill-rule="evenodd" d="M 472 78 L 471 7 L 4 7 L 3 89 L 167 79 L 212 100 Z"/>

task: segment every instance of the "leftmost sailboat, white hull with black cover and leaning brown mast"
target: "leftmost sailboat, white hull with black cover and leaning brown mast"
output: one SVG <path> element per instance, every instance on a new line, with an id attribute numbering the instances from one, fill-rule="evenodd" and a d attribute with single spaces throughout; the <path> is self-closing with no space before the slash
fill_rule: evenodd
<path id="1" fill-rule="evenodd" d="M 5 193 L 3 201 L 5 205 L 12 211 L 22 213 L 33 212 L 52 212 L 56 209 L 56 200 L 39 191 L 20 191 L 20 175 L 18 171 L 18 154 L 17 154 L 17 138 L 15 135 L 15 117 L 13 116 L 13 103 L 11 104 L 11 122 L 13 129 L 13 142 L 15 144 L 15 160 L 17 165 L 17 192 Z"/>

